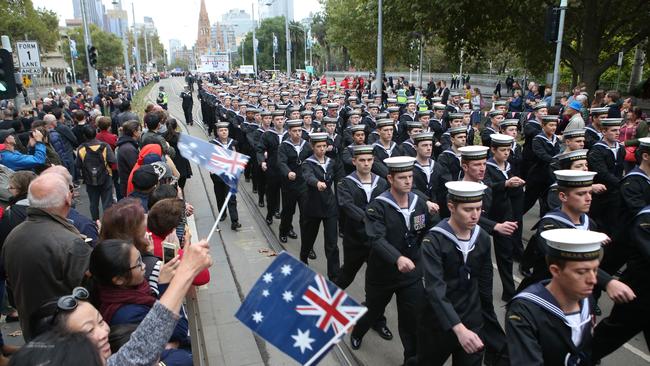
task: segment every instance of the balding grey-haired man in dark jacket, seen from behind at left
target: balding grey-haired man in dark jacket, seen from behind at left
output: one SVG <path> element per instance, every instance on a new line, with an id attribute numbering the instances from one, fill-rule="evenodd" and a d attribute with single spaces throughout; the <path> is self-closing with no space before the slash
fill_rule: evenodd
<path id="1" fill-rule="evenodd" d="M 29 342 L 32 314 L 45 301 L 69 295 L 81 285 L 91 247 L 66 219 L 72 191 L 63 177 L 45 174 L 34 179 L 27 199 L 27 219 L 7 236 L 2 262 Z"/>

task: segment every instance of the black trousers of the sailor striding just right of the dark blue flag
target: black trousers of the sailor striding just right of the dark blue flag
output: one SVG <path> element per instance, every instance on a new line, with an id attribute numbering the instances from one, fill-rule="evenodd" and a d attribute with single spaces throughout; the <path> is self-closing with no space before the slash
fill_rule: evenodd
<path id="1" fill-rule="evenodd" d="M 424 288 L 422 281 L 407 285 L 371 284 L 366 276 L 366 305 L 368 312 L 359 319 L 352 331 L 352 336 L 363 338 L 368 329 L 375 324 L 383 314 L 393 295 L 397 296 L 397 328 L 404 347 L 404 362 L 417 354 L 417 315 L 418 304 L 423 301 Z"/>

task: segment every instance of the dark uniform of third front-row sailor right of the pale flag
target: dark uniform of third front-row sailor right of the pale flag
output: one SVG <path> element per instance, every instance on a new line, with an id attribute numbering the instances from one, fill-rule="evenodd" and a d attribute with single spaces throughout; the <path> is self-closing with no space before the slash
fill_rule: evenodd
<path id="1" fill-rule="evenodd" d="M 325 241 L 325 257 L 327 258 L 327 277 L 336 279 L 340 269 L 339 248 L 337 245 L 337 215 L 338 206 L 334 195 L 334 183 L 340 179 L 342 168 L 335 159 L 325 157 L 321 164 L 315 156 L 310 156 L 302 163 L 302 176 L 307 183 L 308 209 L 301 212 L 302 227 L 300 228 L 300 260 L 308 263 L 309 252 L 314 248 L 320 223 L 323 223 L 323 238 Z M 316 185 L 325 182 L 327 188 L 319 191 Z"/>

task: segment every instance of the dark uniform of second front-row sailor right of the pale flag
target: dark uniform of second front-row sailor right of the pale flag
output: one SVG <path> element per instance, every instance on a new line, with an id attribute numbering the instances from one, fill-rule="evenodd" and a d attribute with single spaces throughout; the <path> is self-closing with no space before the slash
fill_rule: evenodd
<path id="1" fill-rule="evenodd" d="M 300 139 L 298 145 L 294 145 L 290 139 L 282 141 L 278 147 L 278 167 L 281 174 L 282 187 L 282 212 L 280 214 L 279 236 L 287 236 L 293 231 L 293 215 L 296 213 L 296 204 L 300 209 L 302 217 L 303 203 L 307 193 L 307 185 L 302 176 L 302 163 L 312 154 L 311 145 Z M 296 179 L 289 180 L 289 173 L 296 173 Z"/>

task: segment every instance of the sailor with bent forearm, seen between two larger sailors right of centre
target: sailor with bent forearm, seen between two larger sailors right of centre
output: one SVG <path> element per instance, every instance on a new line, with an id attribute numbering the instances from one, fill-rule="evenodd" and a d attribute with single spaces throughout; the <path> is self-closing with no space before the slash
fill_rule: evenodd
<path id="1" fill-rule="evenodd" d="M 512 174 L 508 162 L 514 138 L 508 135 L 492 134 L 490 139 L 492 157 L 486 162 L 486 181 L 492 190 L 492 205 L 487 216 L 496 222 L 512 221 L 518 222 L 518 227 L 523 226 L 523 222 L 516 221 L 515 210 L 510 198 L 513 195 L 520 196 L 526 183 Z M 494 239 L 494 255 L 503 286 L 501 300 L 507 302 L 515 295 L 515 281 L 512 276 L 513 237 L 501 235 L 498 232 L 493 233 L 492 237 Z"/>

